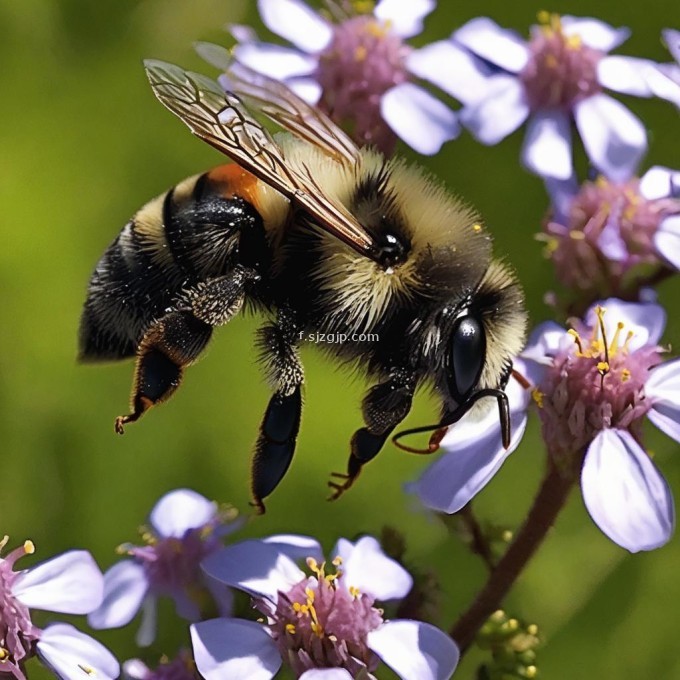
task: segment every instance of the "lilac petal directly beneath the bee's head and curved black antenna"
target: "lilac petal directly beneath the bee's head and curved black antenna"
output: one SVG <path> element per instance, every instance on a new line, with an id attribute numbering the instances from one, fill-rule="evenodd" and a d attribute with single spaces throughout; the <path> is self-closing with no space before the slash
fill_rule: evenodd
<path id="1" fill-rule="evenodd" d="M 458 512 L 479 493 L 517 448 L 526 429 L 529 395 L 516 380 L 506 388 L 510 401 L 512 439 L 503 448 L 498 413 L 490 409 L 480 421 L 464 417 L 449 429 L 442 454 L 411 486 L 422 503 L 441 512 Z"/>

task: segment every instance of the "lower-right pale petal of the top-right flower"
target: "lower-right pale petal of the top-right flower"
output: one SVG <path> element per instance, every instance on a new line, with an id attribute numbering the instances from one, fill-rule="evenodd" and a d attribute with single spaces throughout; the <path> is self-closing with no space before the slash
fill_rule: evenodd
<path id="1" fill-rule="evenodd" d="M 576 127 L 593 165 L 607 178 L 625 182 L 647 150 L 644 125 L 623 104 L 605 94 L 580 101 Z"/>

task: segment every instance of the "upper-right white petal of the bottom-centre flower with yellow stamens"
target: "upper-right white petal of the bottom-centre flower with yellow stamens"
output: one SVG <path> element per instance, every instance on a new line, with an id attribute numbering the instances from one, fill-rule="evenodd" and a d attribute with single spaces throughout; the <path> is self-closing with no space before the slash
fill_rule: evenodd
<path id="1" fill-rule="evenodd" d="M 413 586 L 411 575 L 396 560 L 388 557 L 372 536 L 356 543 L 341 538 L 331 559 L 342 559 L 342 583 L 358 588 L 382 602 L 406 597 Z"/>

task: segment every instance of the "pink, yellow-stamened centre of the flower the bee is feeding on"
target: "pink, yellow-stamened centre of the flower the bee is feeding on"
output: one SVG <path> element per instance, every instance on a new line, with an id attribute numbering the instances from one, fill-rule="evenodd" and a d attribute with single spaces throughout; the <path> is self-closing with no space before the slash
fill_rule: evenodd
<path id="1" fill-rule="evenodd" d="M 649 370 L 660 362 L 661 349 L 644 346 L 631 351 L 633 333 L 626 332 L 622 322 L 613 337 L 607 337 L 604 314 L 598 307 L 594 328 L 569 331 L 573 347 L 555 357 L 534 390 L 543 436 L 553 456 L 584 453 L 605 428 L 640 437 L 642 417 L 650 408 L 644 386 Z"/>

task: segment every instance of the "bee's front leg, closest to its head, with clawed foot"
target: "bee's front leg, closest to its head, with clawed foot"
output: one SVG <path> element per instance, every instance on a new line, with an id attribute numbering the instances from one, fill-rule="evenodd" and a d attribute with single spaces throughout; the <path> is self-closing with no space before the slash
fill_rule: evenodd
<path id="1" fill-rule="evenodd" d="M 330 499 L 340 498 L 359 476 L 361 468 L 373 460 L 382 449 L 392 430 L 411 410 L 411 401 L 417 384 L 416 376 L 408 371 L 393 371 L 389 380 L 372 387 L 361 410 L 366 427 L 354 433 L 346 473 L 333 473 L 342 482 L 328 482 L 333 489 Z"/>

